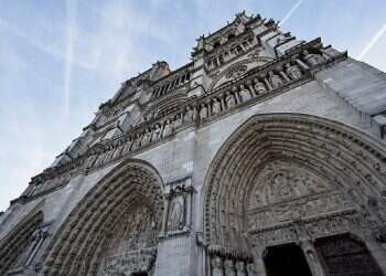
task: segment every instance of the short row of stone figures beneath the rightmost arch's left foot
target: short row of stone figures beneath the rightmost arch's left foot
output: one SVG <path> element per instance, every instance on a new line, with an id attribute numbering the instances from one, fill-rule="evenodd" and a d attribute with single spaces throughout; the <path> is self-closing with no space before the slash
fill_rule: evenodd
<path id="1" fill-rule="evenodd" d="M 212 257 L 213 276 L 257 276 L 254 263 L 247 261 L 234 261 L 221 256 Z"/>

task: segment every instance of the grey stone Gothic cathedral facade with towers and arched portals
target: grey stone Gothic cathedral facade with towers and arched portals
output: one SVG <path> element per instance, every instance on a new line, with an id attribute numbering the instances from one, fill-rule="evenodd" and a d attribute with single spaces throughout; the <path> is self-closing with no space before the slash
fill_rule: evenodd
<path id="1" fill-rule="evenodd" d="M 386 74 L 245 12 L 191 57 L 11 201 L 0 275 L 385 275 Z"/>

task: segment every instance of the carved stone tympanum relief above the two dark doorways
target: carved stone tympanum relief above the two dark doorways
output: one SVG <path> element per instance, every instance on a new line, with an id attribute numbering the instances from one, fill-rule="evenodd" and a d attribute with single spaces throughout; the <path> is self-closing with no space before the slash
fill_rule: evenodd
<path id="1" fill-rule="evenodd" d="M 256 182 L 247 208 L 249 230 L 352 209 L 344 193 L 294 163 L 272 162 Z"/>

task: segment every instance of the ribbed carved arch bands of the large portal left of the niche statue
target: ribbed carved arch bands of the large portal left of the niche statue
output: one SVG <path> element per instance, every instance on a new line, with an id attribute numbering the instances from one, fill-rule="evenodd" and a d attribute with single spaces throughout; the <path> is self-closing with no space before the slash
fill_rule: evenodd
<path id="1" fill-rule="evenodd" d="M 105 242 L 122 212 L 141 203 L 161 226 L 163 183 L 150 164 L 129 160 L 114 169 L 71 212 L 46 251 L 44 275 L 96 275 Z"/>

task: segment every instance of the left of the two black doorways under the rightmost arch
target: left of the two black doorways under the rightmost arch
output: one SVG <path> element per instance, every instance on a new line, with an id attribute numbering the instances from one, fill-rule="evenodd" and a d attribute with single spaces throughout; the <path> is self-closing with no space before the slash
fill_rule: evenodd
<path id="1" fill-rule="evenodd" d="M 302 250 L 296 244 L 268 247 L 264 263 L 268 276 L 312 276 Z"/>

